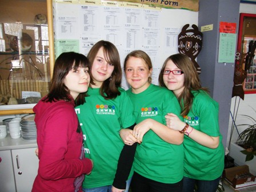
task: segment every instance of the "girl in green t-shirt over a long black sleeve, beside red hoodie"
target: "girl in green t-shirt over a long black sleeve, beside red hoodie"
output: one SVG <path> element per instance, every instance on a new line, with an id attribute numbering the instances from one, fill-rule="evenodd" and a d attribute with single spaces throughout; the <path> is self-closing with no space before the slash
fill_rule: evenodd
<path id="1" fill-rule="evenodd" d="M 117 48 L 99 41 L 87 55 L 90 61 L 90 87 L 83 105 L 76 107 L 83 132 L 85 157 L 93 159 L 94 169 L 83 181 L 83 191 L 120 192 L 129 189 L 129 181 L 114 181 L 118 158 L 124 143 L 121 128 L 133 129 L 135 116 L 125 90 L 121 88 L 122 69 Z"/>

